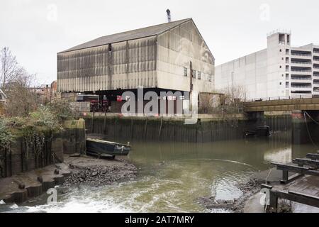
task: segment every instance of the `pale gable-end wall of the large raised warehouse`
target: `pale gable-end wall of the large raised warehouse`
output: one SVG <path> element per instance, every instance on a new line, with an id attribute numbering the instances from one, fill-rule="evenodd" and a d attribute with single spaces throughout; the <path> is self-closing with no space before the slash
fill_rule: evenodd
<path id="1" fill-rule="evenodd" d="M 159 35 L 158 53 L 159 88 L 189 91 L 191 62 L 194 91 L 213 92 L 214 58 L 192 20 Z"/>

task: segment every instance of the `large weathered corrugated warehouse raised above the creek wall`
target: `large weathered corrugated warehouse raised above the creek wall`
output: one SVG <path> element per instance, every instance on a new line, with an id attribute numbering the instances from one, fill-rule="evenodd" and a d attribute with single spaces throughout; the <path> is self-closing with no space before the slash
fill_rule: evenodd
<path id="1" fill-rule="evenodd" d="M 106 35 L 57 54 L 57 91 L 212 92 L 214 57 L 191 18 Z"/>

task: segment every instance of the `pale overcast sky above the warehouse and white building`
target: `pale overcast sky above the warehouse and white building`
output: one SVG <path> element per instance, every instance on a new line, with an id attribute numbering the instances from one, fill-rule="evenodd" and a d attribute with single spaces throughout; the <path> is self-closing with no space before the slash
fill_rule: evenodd
<path id="1" fill-rule="evenodd" d="M 266 48 L 267 33 L 291 30 L 292 45 L 319 43 L 318 0 L 1 0 L 0 48 L 40 83 L 56 79 L 56 54 L 102 35 L 193 18 L 216 65 Z"/>

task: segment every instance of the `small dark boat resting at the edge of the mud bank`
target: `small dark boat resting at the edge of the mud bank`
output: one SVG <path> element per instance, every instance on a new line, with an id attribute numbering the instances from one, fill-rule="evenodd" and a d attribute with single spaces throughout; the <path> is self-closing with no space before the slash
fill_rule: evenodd
<path id="1" fill-rule="evenodd" d="M 117 155 L 128 155 L 130 143 L 114 143 L 106 140 L 86 138 L 86 153 L 98 157 L 116 157 Z"/>

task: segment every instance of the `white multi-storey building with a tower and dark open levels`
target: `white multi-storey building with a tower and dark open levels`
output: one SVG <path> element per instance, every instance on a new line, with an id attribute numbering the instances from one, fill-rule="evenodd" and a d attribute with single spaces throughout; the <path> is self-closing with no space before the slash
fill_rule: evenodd
<path id="1" fill-rule="evenodd" d="M 219 91 L 244 87 L 246 99 L 319 94 L 319 45 L 291 46 L 291 33 L 267 35 L 267 48 L 216 66 Z"/>

